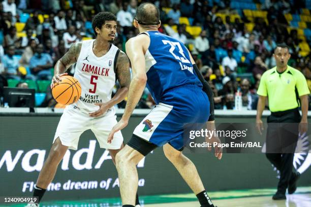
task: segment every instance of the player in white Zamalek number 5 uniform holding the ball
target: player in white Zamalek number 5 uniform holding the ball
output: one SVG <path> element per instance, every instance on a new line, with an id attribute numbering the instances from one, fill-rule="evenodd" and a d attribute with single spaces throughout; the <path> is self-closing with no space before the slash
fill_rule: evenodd
<path id="1" fill-rule="evenodd" d="M 74 77 L 80 82 L 82 92 L 76 103 L 66 107 L 58 123 L 53 145 L 34 190 L 39 202 L 67 149 L 77 150 L 79 137 L 85 130 L 94 132 L 100 147 L 109 150 L 114 163 L 116 153 L 123 147 L 121 132 L 114 135 L 112 143 L 107 143 L 108 133 L 117 123 L 114 105 L 127 96 L 131 82 L 129 58 L 112 44 L 116 26 L 112 13 L 97 14 L 92 20 L 96 39 L 74 43 L 55 64 L 51 88 L 60 82 L 61 76 L 67 75 L 67 68 L 76 63 Z M 111 98 L 116 79 L 120 88 Z M 140 206 L 136 197 L 136 206 Z"/>

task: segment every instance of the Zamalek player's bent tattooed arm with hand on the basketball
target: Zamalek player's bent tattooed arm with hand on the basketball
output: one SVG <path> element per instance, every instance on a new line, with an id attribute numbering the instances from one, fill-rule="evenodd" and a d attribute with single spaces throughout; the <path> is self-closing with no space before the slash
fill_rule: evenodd
<path id="1" fill-rule="evenodd" d="M 56 62 L 54 66 L 54 76 L 52 79 L 51 88 L 54 86 L 55 83 L 58 83 L 60 81 L 59 77 L 67 75 L 67 73 L 65 73 L 67 71 L 67 68 L 77 62 L 81 46 L 82 42 L 72 44 L 68 52 L 65 53 L 65 55 Z"/>

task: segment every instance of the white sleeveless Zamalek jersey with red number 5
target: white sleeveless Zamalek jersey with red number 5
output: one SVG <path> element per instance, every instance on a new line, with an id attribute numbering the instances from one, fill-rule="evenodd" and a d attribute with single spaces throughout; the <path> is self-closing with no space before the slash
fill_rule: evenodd
<path id="1" fill-rule="evenodd" d="M 82 42 L 74 74 L 81 84 L 82 91 L 80 99 L 72 106 L 86 113 L 99 109 L 99 106 L 94 103 L 111 100 L 111 93 L 116 82 L 114 67 L 119 49 L 112 44 L 104 56 L 97 57 L 93 52 L 94 41 Z M 114 107 L 110 109 L 110 113 L 115 114 Z"/>

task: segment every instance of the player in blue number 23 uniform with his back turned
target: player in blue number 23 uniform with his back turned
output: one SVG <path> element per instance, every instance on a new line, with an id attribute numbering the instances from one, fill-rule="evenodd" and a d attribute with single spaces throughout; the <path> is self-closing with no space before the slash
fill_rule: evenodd
<path id="1" fill-rule="evenodd" d="M 202 207 L 214 206 L 208 197 L 195 165 L 182 154 L 185 123 L 213 122 L 212 92 L 204 82 L 195 61 L 179 41 L 158 32 L 159 9 L 145 3 L 138 7 L 134 25 L 141 32 L 126 43 L 133 79 L 127 106 L 114 133 L 128 125 L 130 116 L 147 86 L 157 106 L 136 127 L 132 139 L 116 155 L 123 206 L 134 206 L 138 186 L 136 164 L 157 147 L 197 195 Z M 203 89 L 202 89 L 203 87 Z M 212 142 L 220 143 L 218 137 Z M 222 150 L 215 148 L 215 156 Z"/>

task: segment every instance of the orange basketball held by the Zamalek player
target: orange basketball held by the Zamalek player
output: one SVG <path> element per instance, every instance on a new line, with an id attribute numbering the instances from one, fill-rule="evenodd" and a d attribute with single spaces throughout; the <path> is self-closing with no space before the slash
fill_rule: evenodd
<path id="1" fill-rule="evenodd" d="M 61 76 L 61 82 L 54 85 L 52 95 L 62 105 L 70 105 L 77 102 L 81 96 L 81 85 L 72 76 Z"/>

